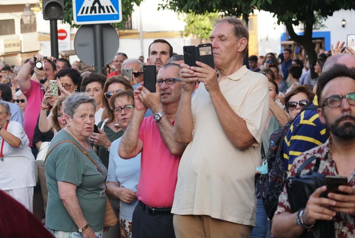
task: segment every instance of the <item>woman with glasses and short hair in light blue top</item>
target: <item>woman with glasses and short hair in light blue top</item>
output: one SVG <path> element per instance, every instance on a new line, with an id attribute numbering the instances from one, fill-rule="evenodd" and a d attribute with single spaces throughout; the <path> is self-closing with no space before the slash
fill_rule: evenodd
<path id="1" fill-rule="evenodd" d="M 125 131 L 134 111 L 134 97 L 130 90 L 121 91 L 112 96 L 111 105 L 117 122 Z M 137 186 L 141 169 L 141 153 L 132 159 L 122 159 L 117 151 L 121 138 L 112 142 L 107 192 L 120 199 L 120 230 L 122 238 L 132 237 L 132 216 L 138 203 Z"/>

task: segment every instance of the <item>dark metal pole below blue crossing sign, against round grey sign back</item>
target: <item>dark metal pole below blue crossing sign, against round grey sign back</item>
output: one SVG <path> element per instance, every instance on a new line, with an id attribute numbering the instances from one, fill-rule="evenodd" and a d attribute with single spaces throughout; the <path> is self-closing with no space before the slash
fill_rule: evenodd
<path id="1" fill-rule="evenodd" d="M 104 52 L 102 39 L 102 25 L 94 24 L 94 53 L 95 53 L 95 72 L 104 74 Z"/>

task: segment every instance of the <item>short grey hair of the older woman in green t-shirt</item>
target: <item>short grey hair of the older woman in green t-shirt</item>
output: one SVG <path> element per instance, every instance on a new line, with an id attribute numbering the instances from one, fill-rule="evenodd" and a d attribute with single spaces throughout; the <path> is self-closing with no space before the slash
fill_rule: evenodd
<path id="1" fill-rule="evenodd" d="M 89 102 L 94 106 L 96 111 L 96 101 L 93 97 L 87 95 L 85 92 L 76 92 L 69 95 L 62 103 L 64 113 L 73 118 L 76 109 L 82 103 Z"/>

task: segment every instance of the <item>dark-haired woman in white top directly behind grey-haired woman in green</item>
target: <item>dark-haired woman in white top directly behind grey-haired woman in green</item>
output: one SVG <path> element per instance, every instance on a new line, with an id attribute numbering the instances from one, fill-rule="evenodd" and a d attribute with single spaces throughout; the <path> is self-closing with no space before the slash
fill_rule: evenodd
<path id="1" fill-rule="evenodd" d="M 103 90 L 106 81 L 106 76 L 98 73 L 87 75 L 81 82 L 81 91 L 86 92 L 89 96 L 96 100 L 95 124 L 102 121 L 102 113 L 104 112 L 103 105 Z"/>

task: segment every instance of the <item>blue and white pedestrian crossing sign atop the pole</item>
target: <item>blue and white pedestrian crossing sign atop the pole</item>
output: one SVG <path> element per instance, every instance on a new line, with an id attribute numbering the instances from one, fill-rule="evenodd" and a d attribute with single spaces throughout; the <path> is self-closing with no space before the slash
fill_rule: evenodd
<path id="1" fill-rule="evenodd" d="M 73 0 L 73 20 L 77 25 L 121 22 L 121 0 Z"/>

